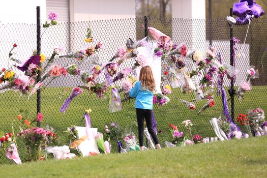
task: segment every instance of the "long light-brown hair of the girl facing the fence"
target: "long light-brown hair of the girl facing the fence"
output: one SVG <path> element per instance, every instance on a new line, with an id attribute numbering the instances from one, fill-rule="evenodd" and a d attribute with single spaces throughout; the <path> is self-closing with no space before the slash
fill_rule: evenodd
<path id="1" fill-rule="evenodd" d="M 155 90 L 155 80 L 151 67 L 144 66 L 141 68 L 139 80 L 141 81 L 142 90 L 149 90 L 150 92 Z"/>

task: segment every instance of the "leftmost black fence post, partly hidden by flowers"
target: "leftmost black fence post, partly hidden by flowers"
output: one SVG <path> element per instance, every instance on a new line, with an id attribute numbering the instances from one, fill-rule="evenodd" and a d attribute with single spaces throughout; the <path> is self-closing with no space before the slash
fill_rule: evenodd
<path id="1" fill-rule="evenodd" d="M 36 55 L 40 55 L 41 53 L 41 22 L 40 22 L 40 6 L 36 7 L 36 17 L 37 17 L 37 51 Z M 38 71 L 37 78 L 36 78 L 36 83 L 38 83 L 41 80 L 41 72 Z M 36 106 L 37 106 L 37 113 L 41 112 L 41 89 L 37 90 L 37 98 L 36 98 Z M 40 127 L 41 123 L 37 121 L 37 127 Z"/>

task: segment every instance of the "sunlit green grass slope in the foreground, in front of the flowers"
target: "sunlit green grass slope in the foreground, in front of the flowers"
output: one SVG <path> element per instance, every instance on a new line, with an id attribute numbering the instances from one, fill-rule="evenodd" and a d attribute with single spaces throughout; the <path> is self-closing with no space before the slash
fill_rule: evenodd
<path id="1" fill-rule="evenodd" d="M 0 165 L 0 177 L 266 177 L 267 137 Z"/>

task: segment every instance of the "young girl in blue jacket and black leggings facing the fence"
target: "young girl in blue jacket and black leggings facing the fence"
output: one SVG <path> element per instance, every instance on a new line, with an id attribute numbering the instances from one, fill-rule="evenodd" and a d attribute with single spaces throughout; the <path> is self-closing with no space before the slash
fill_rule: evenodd
<path id="1" fill-rule="evenodd" d="M 140 70 L 139 81 L 130 91 L 130 97 L 135 98 L 136 117 L 138 124 L 138 138 L 140 150 L 143 151 L 143 133 L 144 133 L 144 118 L 147 130 L 152 136 L 156 148 L 160 149 L 159 138 L 153 130 L 152 126 L 152 110 L 153 110 L 153 94 L 155 82 L 152 70 L 149 66 L 144 66 Z"/>

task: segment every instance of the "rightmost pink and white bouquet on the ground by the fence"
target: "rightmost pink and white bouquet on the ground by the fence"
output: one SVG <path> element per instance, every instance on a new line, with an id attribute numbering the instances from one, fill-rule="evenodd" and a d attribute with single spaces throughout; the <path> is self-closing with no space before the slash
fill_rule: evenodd
<path id="1" fill-rule="evenodd" d="M 253 109 L 248 113 L 248 119 L 250 123 L 250 127 L 253 130 L 254 136 L 258 137 L 261 135 L 265 135 L 261 126 L 265 125 L 265 115 L 264 111 L 261 108 Z M 266 127 L 266 126 L 265 126 Z M 265 130 L 265 128 L 264 128 Z"/>

